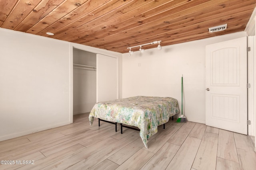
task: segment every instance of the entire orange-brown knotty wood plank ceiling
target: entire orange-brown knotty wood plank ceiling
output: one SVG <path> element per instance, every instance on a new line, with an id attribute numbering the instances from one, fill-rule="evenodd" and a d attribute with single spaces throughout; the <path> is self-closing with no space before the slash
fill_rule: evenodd
<path id="1" fill-rule="evenodd" d="M 255 6 L 256 0 L 0 0 L 0 27 L 127 53 L 152 41 L 165 46 L 244 31 Z M 209 33 L 225 23 L 225 31 Z"/>

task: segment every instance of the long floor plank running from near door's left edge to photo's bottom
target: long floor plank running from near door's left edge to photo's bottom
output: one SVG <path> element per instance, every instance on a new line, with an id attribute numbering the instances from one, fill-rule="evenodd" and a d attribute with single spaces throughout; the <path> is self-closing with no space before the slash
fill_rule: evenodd
<path id="1" fill-rule="evenodd" d="M 205 132 L 192 168 L 196 170 L 215 170 L 218 147 L 218 134 Z"/>

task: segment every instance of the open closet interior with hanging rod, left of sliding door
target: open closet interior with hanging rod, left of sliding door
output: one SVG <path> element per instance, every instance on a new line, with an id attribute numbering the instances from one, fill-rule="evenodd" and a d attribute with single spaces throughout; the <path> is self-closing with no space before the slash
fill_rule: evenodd
<path id="1" fill-rule="evenodd" d="M 73 64 L 73 114 L 76 115 L 90 112 L 96 103 L 96 54 L 73 48 Z"/>

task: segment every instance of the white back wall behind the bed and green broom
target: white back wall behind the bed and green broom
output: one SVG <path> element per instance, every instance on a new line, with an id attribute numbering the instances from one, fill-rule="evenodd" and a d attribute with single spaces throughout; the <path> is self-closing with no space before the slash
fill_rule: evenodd
<path id="1" fill-rule="evenodd" d="M 183 113 L 188 121 L 205 123 L 205 45 L 245 36 L 246 32 L 239 32 L 164 46 L 161 51 L 135 51 L 131 57 L 123 54 L 122 98 L 168 96 L 176 98 L 181 109 L 183 74 Z"/>

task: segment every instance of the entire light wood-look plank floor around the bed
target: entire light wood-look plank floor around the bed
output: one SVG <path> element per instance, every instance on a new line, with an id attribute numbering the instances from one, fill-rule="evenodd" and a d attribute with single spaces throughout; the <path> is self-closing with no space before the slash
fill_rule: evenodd
<path id="1" fill-rule="evenodd" d="M 186 122 L 166 123 L 148 140 L 138 131 L 88 121 L 89 113 L 74 123 L 0 142 L 0 170 L 255 170 L 256 153 L 246 135 Z M 22 162 L 23 160 L 31 162 Z M 33 162 L 34 161 L 34 162 Z M 21 164 L 25 163 L 25 164 Z M 33 163 L 33 164 L 26 164 Z"/>

